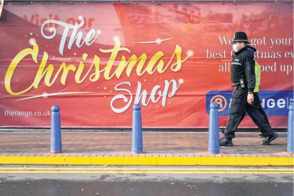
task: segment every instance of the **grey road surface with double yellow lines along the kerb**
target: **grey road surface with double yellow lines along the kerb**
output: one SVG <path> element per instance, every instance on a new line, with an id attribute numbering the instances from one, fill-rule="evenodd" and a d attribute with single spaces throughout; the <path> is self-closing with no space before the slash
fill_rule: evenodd
<path id="1" fill-rule="evenodd" d="M 7 166 L 5 167 L 0 167 L 1 196 L 293 195 L 293 174 L 282 171 L 293 169 L 290 167 L 278 169 L 267 167 L 266 169 L 270 171 L 262 171 L 264 173 L 258 172 L 258 168 L 249 168 L 253 169 L 253 172 L 243 168 L 243 173 L 240 173 L 239 168 L 233 168 L 236 172 L 227 174 L 221 173 L 220 170 L 225 168 L 226 171 L 230 171 L 231 168 L 10 166 L 12 169 L 7 169 Z M 174 168 L 178 169 L 176 170 L 178 173 Z M 194 169 L 196 173 L 189 173 L 189 168 Z M 205 173 L 201 169 L 212 172 Z"/>

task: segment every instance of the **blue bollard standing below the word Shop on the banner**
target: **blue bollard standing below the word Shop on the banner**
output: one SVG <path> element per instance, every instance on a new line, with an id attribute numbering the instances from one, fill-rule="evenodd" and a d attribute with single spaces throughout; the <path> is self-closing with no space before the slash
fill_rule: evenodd
<path id="1" fill-rule="evenodd" d="M 141 106 L 134 104 L 132 119 L 132 152 L 143 152 Z"/>

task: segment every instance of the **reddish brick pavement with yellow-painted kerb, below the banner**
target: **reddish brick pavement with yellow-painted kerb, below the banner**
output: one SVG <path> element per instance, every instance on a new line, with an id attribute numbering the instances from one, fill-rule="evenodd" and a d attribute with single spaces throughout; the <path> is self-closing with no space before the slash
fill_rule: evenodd
<path id="1" fill-rule="evenodd" d="M 0 164 L 293 165 L 278 134 L 265 146 L 257 132 L 236 132 L 233 147 L 209 154 L 207 132 L 143 132 L 144 153 L 133 154 L 131 132 L 62 132 L 63 153 L 51 154 L 50 132 L 0 132 Z"/>

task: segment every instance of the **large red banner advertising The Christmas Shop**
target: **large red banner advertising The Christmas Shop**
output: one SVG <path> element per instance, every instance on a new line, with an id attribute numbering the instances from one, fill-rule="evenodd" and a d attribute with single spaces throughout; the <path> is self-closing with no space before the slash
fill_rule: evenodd
<path id="1" fill-rule="evenodd" d="M 12 3 L 0 18 L 0 126 L 207 128 L 231 97 L 232 38 L 245 31 L 261 65 L 273 128 L 293 102 L 292 2 Z M 246 116 L 240 127 L 256 127 Z"/>

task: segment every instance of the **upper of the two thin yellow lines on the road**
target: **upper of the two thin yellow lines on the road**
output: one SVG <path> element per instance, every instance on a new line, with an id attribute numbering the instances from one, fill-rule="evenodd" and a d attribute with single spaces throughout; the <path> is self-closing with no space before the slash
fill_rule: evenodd
<path id="1" fill-rule="evenodd" d="M 102 167 L 0 167 L 0 170 L 54 171 L 294 171 L 294 168 L 102 168 Z"/>

